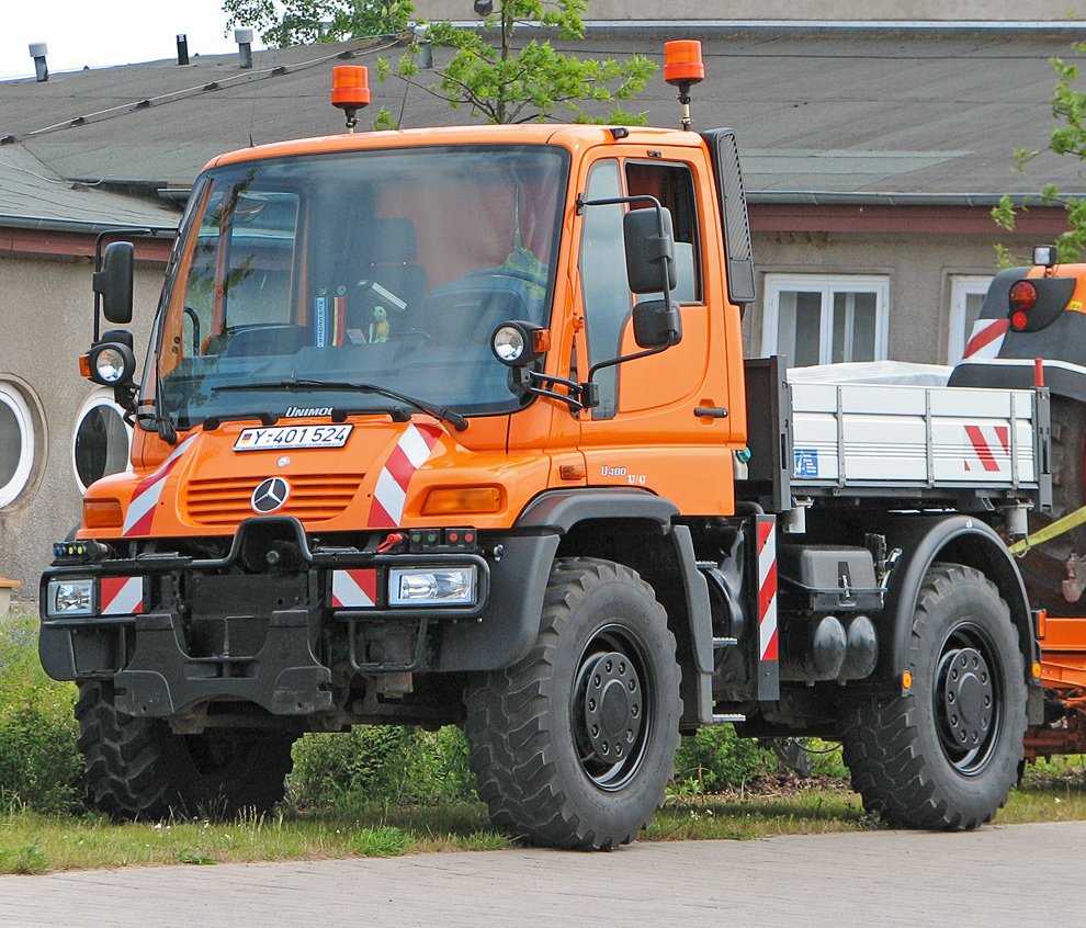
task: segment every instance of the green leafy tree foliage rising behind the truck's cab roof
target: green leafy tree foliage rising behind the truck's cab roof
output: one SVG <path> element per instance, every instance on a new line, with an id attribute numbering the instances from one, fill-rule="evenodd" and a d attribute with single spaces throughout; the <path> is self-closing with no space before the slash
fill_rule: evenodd
<path id="1" fill-rule="evenodd" d="M 490 123 L 546 121 L 561 113 L 576 122 L 640 124 L 644 115 L 626 112 L 622 101 L 641 93 L 657 70 L 643 55 L 619 63 L 555 50 L 551 35 L 584 37 L 581 16 L 588 0 L 493 0 L 478 29 L 420 21 L 410 32 L 414 8 L 408 0 L 224 0 L 223 9 L 230 14 L 229 25 L 263 30 L 264 42 L 280 46 L 387 34 L 409 37 L 398 63 L 378 61 L 378 78 L 399 78 Z M 522 42 L 525 36 L 530 37 Z M 451 49 L 452 55 L 427 80 L 419 61 L 423 50 L 433 48 Z M 589 113 L 586 106 L 607 106 L 609 112 Z M 382 109 L 376 124 L 391 128 L 397 122 Z"/>

